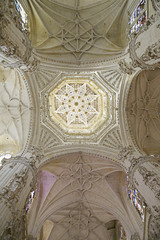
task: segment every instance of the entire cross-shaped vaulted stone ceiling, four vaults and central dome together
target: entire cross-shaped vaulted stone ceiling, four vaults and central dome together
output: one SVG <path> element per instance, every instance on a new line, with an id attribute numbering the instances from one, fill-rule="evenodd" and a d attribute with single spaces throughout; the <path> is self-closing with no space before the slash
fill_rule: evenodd
<path id="1" fill-rule="evenodd" d="M 29 234 L 110 240 L 116 224 L 129 237 L 136 229 L 143 234 L 127 200 L 126 169 L 133 150 L 159 153 L 160 70 L 137 75 L 140 68 L 125 62 L 132 1 L 21 2 L 37 66 L 0 68 L 0 154 L 9 148 L 24 160 L 29 148 L 38 149 Z"/>

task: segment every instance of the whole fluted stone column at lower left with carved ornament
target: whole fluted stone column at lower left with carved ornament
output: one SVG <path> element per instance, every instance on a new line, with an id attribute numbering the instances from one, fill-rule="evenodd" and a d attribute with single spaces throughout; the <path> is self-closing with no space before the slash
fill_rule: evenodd
<path id="1" fill-rule="evenodd" d="M 23 157 L 5 160 L 0 170 L 0 233 L 2 240 L 26 239 L 25 208 L 35 190 L 40 155 L 34 148 Z"/>

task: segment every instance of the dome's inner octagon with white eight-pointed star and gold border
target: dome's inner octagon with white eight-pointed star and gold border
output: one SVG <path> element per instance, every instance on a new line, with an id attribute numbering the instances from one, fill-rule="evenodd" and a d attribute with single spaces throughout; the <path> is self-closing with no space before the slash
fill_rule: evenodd
<path id="1" fill-rule="evenodd" d="M 108 95 L 92 80 L 64 79 L 49 93 L 49 114 L 69 134 L 91 134 L 107 120 Z"/>

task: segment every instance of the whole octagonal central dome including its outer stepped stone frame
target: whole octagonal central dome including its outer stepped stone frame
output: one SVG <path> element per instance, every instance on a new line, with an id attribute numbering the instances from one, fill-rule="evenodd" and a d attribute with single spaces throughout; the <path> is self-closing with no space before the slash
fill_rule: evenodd
<path id="1" fill-rule="evenodd" d="M 42 123 L 63 141 L 97 142 L 116 123 L 116 92 L 98 74 L 60 74 L 41 100 Z"/>

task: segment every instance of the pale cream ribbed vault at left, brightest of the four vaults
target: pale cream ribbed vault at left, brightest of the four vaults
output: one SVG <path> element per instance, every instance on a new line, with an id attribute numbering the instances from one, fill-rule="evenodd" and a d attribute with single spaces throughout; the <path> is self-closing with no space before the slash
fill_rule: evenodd
<path id="1" fill-rule="evenodd" d="M 15 155 L 28 140 L 30 98 L 24 80 L 21 72 L 0 67 L 0 154 Z"/>

